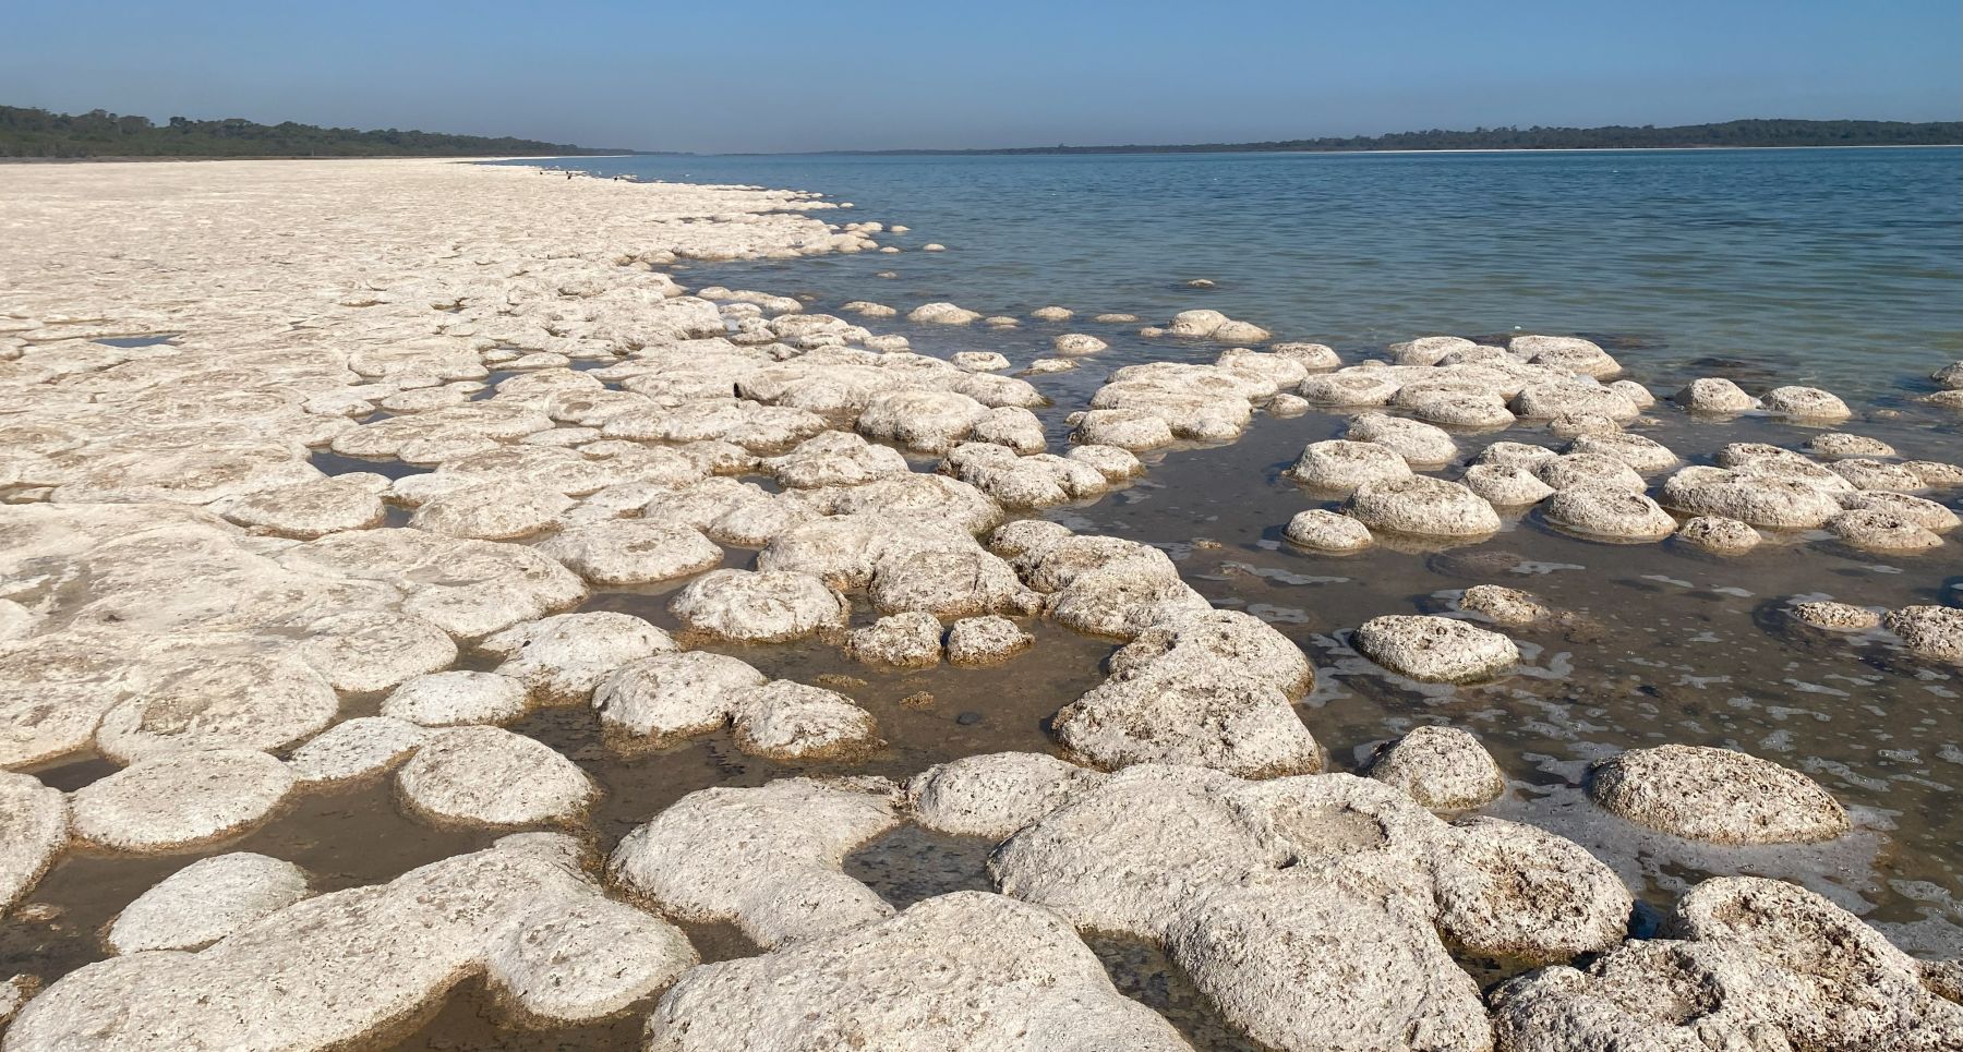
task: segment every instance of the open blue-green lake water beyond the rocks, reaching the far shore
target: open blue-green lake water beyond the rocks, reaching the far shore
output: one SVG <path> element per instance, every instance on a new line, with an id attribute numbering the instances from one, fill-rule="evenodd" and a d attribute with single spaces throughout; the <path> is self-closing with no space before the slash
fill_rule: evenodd
<path id="1" fill-rule="evenodd" d="M 799 263 L 799 289 L 826 300 L 1211 306 L 1339 349 L 1578 332 L 1649 373 L 1735 359 L 1861 396 L 1963 357 L 1949 147 L 569 163 L 817 190 L 856 204 L 838 222 L 913 228 L 881 241 L 950 249 Z M 1201 277 L 1219 287 L 1184 287 Z"/>

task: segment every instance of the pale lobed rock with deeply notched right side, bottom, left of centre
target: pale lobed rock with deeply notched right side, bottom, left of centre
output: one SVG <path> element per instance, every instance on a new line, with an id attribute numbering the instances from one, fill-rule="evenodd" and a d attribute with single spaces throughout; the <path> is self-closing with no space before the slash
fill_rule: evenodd
<path id="1" fill-rule="evenodd" d="M 681 920 L 734 920 L 766 950 L 893 915 L 844 858 L 899 824 L 883 779 L 701 789 L 634 828 L 607 862 L 616 889 Z"/>

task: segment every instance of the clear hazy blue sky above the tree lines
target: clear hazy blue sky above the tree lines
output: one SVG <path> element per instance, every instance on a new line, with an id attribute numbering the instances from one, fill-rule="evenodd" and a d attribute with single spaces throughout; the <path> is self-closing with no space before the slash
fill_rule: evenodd
<path id="1" fill-rule="evenodd" d="M 6 0 L 0 104 L 679 151 L 1959 120 L 1957 0 Z"/>

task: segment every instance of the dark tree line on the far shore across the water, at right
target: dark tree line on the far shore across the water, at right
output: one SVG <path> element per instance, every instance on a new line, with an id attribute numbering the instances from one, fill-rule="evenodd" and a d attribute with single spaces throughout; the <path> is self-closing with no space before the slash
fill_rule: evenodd
<path id="1" fill-rule="evenodd" d="M 1351 135 L 1321 139 L 1276 139 L 1266 143 L 1190 145 L 1042 145 L 1015 149 L 891 149 L 868 153 L 1278 153 L 1278 151 L 1388 151 L 1388 149 L 1672 149 L 1672 147 L 1767 147 L 1767 145 L 1959 145 L 1963 122 L 1900 120 L 1727 120 L 1724 124 L 1682 124 L 1641 128 L 1474 128 L 1470 132 L 1396 132 L 1392 135 Z"/>

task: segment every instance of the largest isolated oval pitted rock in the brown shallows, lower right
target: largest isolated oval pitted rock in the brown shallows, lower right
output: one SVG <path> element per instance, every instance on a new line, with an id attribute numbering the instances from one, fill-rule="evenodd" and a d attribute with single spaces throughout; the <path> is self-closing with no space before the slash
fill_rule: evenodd
<path id="1" fill-rule="evenodd" d="M 1851 828 L 1814 779 L 1722 748 L 1623 752 L 1590 771 L 1588 795 L 1633 822 L 1718 844 L 1831 840 Z"/>

